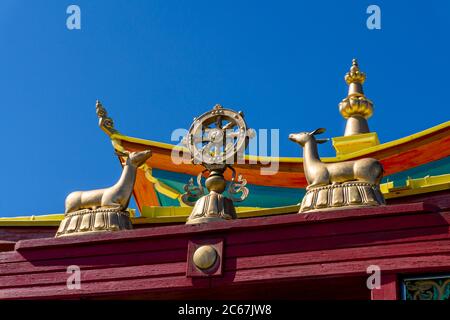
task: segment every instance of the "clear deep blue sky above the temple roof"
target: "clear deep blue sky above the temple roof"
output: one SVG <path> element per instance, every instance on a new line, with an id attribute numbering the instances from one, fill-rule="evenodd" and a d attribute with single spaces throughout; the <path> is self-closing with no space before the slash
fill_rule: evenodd
<path id="1" fill-rule="evenodd" d="M 70 4 L 81 30 L 66 28 Z M 70 191 L 115 182 L 96 99 L 122 133 L 163 142 L 221 103 L 299 156 L 289 133 L 343 134 L 357 57 L 381 142 L 445 122 L 449 21 L 449 1 L 1 0 L 0 216 L 62 213 Z"/>

